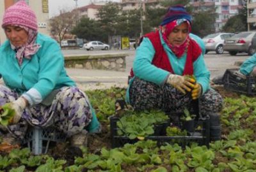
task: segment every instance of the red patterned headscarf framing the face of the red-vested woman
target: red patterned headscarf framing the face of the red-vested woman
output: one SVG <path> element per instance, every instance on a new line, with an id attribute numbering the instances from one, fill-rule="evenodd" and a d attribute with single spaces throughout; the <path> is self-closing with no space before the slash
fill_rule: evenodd
<path id="1" fill-rule="evenodd" d="M 191 32 L 191 24 L 188 20 L 182 18 L 182 19 L 177 19 L 177 20 L 173 20 L 172 22 L 160 26 L 160 30 L 163 34 L 163 39 L 164 42 L 168 45 L 168 47 L 172 50 L 172 52 L 177 56 L 177 57 L 181 57 L 184 52 L 186 52 L 188 45 L 189 45 L 189 34 L 187 36 L 187 38 L 185 39 L 184 43 L 182 43 L 182 45 L 172 45 L 168 39 L 168 35 L 170 34 L 170 32 L 173 31 L 173 29 L 182 24 L 183 22 L 186 22 L 188 24 L 188 30 L 189 32 Z"/>

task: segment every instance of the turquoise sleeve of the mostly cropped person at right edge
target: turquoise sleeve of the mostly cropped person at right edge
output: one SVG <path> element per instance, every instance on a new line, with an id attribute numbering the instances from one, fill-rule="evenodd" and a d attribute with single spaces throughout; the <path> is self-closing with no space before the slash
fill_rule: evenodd
<path id="1" fill-rule="evenodd" d="M 239 71 L 243 73 L 243 75 L 250 75 L 253 68 L 256 66 L 256 54 L 253 54 L 251 57 L 246 59 L 243 64 L 240 66 Z"/>

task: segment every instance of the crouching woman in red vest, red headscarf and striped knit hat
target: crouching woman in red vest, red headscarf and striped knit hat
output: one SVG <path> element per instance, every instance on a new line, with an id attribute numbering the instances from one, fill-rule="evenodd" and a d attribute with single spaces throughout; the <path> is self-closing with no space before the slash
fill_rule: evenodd
<path id="1" fill-rule="evenodd" d="M 209 88 L 210 72 L 189 32 L 191 15 L 177 5 L 168 9 L 157 31 L 143 36 L 127 90 L 127 102 L 135 110 L 182 112 L 198 99 L 202 115 L 221 110 L 223 99 Z"/>

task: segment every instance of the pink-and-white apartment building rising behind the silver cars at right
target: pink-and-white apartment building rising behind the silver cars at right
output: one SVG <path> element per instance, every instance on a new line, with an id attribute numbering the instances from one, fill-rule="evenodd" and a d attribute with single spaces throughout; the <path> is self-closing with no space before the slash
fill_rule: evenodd
<path id="1" fill-rule="evenodd" d="M 214 24 L 216 32 L 220 32 L 228 18 L 237 15 L 239 8 L 242 8 L 241 0 L 191 0 L 191 4 L 196 11 L 216 9 L 217 17 Z"/>

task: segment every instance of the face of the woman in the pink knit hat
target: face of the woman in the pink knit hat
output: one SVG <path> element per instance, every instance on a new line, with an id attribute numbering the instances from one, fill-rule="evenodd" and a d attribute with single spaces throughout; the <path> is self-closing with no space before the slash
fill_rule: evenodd
<path id="1" fill-rule="evenodd" d="M 28 32 L 26 32 L 22 27 L 7 25 L 4 27 L 4 32 L 15 47 L 20 47 L 28 41 Z"/>

